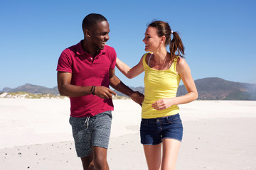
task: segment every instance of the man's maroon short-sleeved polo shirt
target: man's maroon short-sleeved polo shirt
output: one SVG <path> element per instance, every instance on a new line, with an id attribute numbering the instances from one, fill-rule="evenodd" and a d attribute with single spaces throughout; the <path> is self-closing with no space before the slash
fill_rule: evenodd
<path id="1" fill-rule="evenodd" d="M 93 60 L 92 55 L 82 49 L 82 40 L 63 50 L 58 60 L 57 71 L 72 73 L 71 84 L 76 86 L 106 86 L 109 88 L 109 70 L 114 69 L 117 54 L 113 47 L 105 45 Z M 89 94 L 70 97 L 70 116 L 94 116 L 104 111 L 113 111 L 112 98 L 102 99 Z"/>

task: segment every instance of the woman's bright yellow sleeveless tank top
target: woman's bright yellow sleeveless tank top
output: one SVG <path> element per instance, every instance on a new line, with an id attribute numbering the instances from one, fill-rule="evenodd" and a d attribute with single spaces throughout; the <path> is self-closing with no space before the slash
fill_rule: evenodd
<path id="1" fill-rule="evenodd" d="M 175 115 L 179 112 L 177 105 L 171 106 L 161 111 L 156 111 L 151 104 L 161 98 L 172 98 L 176 96 L 178 84 L 181 81 L 180 75 L 176 73 L 178 56 L 171 67 L 166 70 L 156 70 L 146 64 L 146 53 L 143 56 L 144 75 L 144 101 L 142 103 L 142 118 L 161 118 Z"/>

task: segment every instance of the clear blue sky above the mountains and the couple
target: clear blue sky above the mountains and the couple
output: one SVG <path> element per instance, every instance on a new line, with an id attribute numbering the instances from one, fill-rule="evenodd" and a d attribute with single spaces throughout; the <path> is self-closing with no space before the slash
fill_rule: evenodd
<path id="1" fill-rule="evenodd" d="M 81 23 L 101 13 L 108 45 L 130 67 L 144 54 L 144 32 L 162 20 L 181 33 L 193 79 L 220 77 L 256 84 L 256 1 L 1 1 L 0 90 L 23 84 L 57 86 L 60 53 L 83 38 Z M 128 86 L 144 86 L 141 74 Z"/>

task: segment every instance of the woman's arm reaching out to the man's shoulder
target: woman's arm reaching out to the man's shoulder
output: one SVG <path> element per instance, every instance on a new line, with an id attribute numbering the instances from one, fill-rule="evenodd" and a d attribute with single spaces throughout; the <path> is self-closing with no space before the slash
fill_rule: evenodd
<path id="1" fill-rule="evenodd" d="M 125 64 L 124 62 L 122 62 L 117 58 L 116 66 L 117 66 L 117 69 L 119 69 L 119 71 L 122 72 L 122 74 L 124 74 L 124 76 L 128 77 L 129 79 L 132 79 L 134 77 L 137 77 L 142 72 L 144 72 L 142 59 L 143 57 L 141 58 L 139 63 L 136 66 L 132 67 L 131 69 L 127 64 Z"/>

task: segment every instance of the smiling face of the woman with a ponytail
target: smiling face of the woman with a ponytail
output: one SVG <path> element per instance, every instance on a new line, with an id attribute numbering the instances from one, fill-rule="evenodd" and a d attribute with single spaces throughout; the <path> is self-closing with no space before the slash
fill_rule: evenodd
<path id="1" fill-rule="evenodd" d="M 145 43 L 145 51 L 154 52 L 161 45 L 161 38 L 157 35 L 156 28 L 148 27 L 146 28 L 145 38 L 143 39 Z"/>

